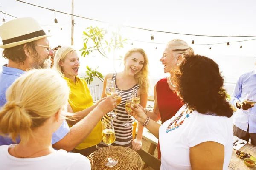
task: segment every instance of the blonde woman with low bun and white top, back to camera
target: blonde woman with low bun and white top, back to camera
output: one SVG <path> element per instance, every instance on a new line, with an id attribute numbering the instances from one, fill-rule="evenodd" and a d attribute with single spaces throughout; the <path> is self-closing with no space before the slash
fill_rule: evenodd
<path id="1" fill-rule="evenodd" d="M 0 135 L 9 134 L 19 144 L 0 146 L 3 170 L 90 170 L 90 161 L 79 153 L 52 148 L 52 133 L 67 113 L 69 87 L 50 69 L 32 70 L 6 91 L 0 111 Z"/>

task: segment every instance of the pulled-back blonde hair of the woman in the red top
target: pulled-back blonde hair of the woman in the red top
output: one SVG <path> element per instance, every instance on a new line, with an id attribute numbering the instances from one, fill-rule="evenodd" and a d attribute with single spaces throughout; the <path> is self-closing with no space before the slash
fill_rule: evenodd
<path id="1" fill-rule="evenodd" d="M 180 39 L 173 39 L 167 43 L 167 46 L 174 54 L 194 54 L 193 48 L 189 47 L 189 45 Z"/>

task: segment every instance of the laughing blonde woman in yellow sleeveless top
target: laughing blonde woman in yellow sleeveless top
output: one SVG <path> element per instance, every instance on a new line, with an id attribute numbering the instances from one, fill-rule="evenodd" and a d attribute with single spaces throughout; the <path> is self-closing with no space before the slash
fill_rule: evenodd
<path id="1" fill-rule="evenodd" d="M 77 77 L 80 66 L 79 57 L 76 50 L 71 46 L 64 46 L 58 49 L 54 57 L 54 68 L 57 69 L 70 87 L 69 96 L 69 112 L 79 112 L 87 109 L 88 113 L 95 108 L 93 98 L 84 79 Z M 84 116 L 76 117 L 75 121 L 68 121 L 70 127 L 79 122 Z M 102 140 L 102 125 L 101 122 L 94 127 L 89 136 L 78 146 L 73 149 L 73 152 L 81 153 L 84 156 L 90 155 L 96 150 L 96 144 Z"/>

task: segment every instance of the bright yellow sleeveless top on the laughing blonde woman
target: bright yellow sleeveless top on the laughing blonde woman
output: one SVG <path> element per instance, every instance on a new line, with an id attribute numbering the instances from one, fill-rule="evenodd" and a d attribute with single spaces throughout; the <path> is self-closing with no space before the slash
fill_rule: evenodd
<path id="1" fill-rule="evenodd" d="M 76 83 L 67 77 L 64 77 L 64 79 L 67 81 L 67 84 L 70 87 L 70 96 L 68 102 L 73 112 L 82 111 L 93 105 L 92 95 L 90 94 L 89 88 L 84 79 L 76 77 Z M 69 127 L 71 127 L 71 125 L 69 125 Z M 82 143 L 77 145 L 75 149 L 81 150 L 87 147 L 92 147 L 98 144 L 100 141 L 102 141 L 101 121 L 98 122 L 89 136 L 87 136 Z"/>

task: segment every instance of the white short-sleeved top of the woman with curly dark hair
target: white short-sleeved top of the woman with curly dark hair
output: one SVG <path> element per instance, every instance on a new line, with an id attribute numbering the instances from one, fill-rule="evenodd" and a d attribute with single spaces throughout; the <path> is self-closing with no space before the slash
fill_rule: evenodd
<path id="1" fill-rule="evenodd" d="M 186 106 L 183 105 L 175 116 L 160 126 L 161 170 L 191 170 L 189 148 L 208 141 L 224 145 L 223 170 L 227 170 L 233 149 L 232 119 L 222 116 L 204 115 L 193 111 L 180 127 L 166 133 L 168 125 L 185 108 Z M 186 116 L 186 113 L 183 114 L 178 122 L 183 120 L 184 116 Z"/>

